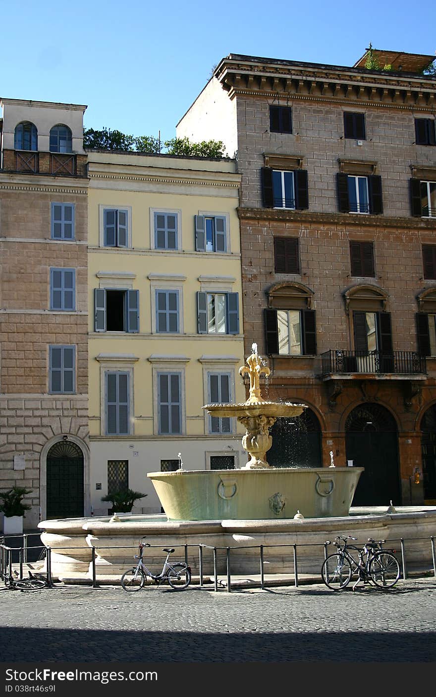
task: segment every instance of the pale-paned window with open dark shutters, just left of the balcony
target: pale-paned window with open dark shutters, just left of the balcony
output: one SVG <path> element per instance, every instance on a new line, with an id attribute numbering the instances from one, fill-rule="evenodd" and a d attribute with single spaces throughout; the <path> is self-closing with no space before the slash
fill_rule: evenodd
<path id="1" fill-rule="evenodd" d="M 265 309 L 268 355 L 316 355 L 316 316 L 312 309 Z"/>

